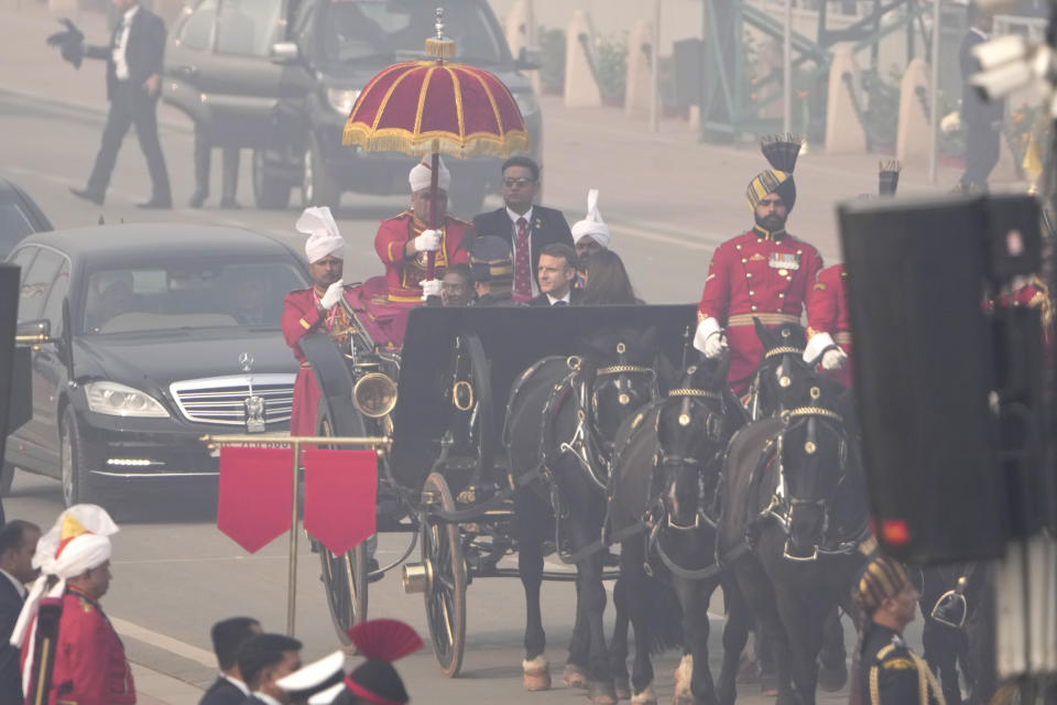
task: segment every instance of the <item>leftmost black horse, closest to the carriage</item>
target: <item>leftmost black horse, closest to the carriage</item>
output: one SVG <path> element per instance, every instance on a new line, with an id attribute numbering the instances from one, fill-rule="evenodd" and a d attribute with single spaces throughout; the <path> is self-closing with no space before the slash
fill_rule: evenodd
<path id="1" fill-rule="evenodd" d="M 514 496 L 517 566 L 525 588 L 524 684 L 551 685 L 540 614 L 543 544 L 577 567 L 577 608 L 567 674 L 587 674 L 589 695 L 615 703 L 602 626 L 601 542 L 609 463 L 621 423 L 657 395 L 655 332 L 592 339 L 579 357 L 545 358 L 511 389 L 503 438 L 512 476 L 535 476 Z"/>

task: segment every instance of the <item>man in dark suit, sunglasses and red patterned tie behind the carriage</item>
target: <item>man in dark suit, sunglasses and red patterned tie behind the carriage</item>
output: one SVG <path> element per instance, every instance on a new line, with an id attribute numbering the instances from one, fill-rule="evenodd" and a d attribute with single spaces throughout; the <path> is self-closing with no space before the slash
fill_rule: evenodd
<path id="1" fill-rule="evenodd" d="M 540 166 L 527 156 L 503 163 L 505 206 L 473 218 L 477 234 L 503 238 L 514 256 L 514 301 L 526 302 L 540 293 L 535 275 L 540 252 L 552 242 L 573 247 L 573 232 L 560 210 L 534 205 L 540 193 Z"/>

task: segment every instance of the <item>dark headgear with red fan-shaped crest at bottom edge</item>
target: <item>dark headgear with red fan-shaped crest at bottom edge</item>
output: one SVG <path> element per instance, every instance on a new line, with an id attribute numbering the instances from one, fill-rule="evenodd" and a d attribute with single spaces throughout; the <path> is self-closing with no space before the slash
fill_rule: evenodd
<path id="1" fill-rule="evenodd" d="M 336 694 L 331 701 L 334 705 L 407 703 L 411 697 L 392 662 L 422 648 L 422 639 L 415 630 L 395 619 L 370 619 L 346 633 L 367 661 L 345 677 L 345 690 Z"/>

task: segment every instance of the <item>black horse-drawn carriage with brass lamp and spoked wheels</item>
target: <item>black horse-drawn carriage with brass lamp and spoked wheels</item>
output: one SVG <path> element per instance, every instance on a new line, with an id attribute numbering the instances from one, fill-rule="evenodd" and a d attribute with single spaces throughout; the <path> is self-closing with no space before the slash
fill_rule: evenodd
<path id="1" fill-rule="evenodd" d="M 351 313 L 356 321 L 366 315 Z M 555 370 L 548 379 L 560 383 L 546 395 L 543 423 L 565 405 L 575 409 L 577 431 L 559 444 L 590 465 L 596 444 L 610 443 L 623 417 L 656 395 L 653 358 L 678 362 L 693 321 L 691 306 L 419 307 L 400 351 L 372 339 L 363 325 L 344 349 L 329 336 L 303 338 L 322 391 L 317 434 L 391 440 L 379 454 L 378 528 L 412 536 L 401 558 L 384 566 L 373 562 L 372 541 L 344 555 L 317 546 L 338 632 L 366 618 L 368 585 L 417 543 L 421 557 L 404 565 L 404 586 L 424 593 L 437 660 L 446 675 L 457 674 L 467 585 L 519 575 L 499 565 L 517 550 L 515 494 L 532 485 L 554 488 L 545 478 L 548 462 L 521 473 L 510 467 L 504 436 L 512 431 L 504 422 L 520 386 L 543 366 Z M 556 542 L 562 555 L 560 533 Z"/>

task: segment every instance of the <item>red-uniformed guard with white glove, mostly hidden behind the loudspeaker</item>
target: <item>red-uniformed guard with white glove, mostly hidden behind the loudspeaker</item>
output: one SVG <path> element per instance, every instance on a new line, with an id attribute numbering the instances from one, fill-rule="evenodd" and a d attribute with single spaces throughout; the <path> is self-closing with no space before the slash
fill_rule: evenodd
<path id="1" fill-rule="evenodd" d="M 900 163 L 881 164 L 881 196 L 894 196 L 900 184 Z M 818 362 L 822 370 L 851 387 L 851 319 L 848 315 L 848 272 L 843 263 L 818 273 L 807 295 L 807 347 L 805 362 Z"/>

